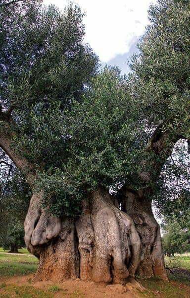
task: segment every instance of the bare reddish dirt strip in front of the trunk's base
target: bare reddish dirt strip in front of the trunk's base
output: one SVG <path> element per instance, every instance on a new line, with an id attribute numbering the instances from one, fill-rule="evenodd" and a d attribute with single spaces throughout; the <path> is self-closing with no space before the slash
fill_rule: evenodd
<path id="1" fill-rule="evenodd" d="M 14 284 L 17 286 L 33 286 L 42 290 L 47 290 L 50 286 L 56 285 L 64 294 L 59 291 L 54 294 L 55 298 L 70 298 L 71 294 L 76 292 L 78 296 L 83 298 L 139 298 L 139 293 L 143 292 L 144 288 L 136 281 L 127 283 L 127 286 L 122 285 L 102 285 L 94 282 L 84 282 L 81 280 L 67 280 L 61 284 L 43 281 L 32 282 L 33 275 L 13 277 L 6 279 L 6 285 Z M 66 293 L 66 294 L 65 294 Z"/>

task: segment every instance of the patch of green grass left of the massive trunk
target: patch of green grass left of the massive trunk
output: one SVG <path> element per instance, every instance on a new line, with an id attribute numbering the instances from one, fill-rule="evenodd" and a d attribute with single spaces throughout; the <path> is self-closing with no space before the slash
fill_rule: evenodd
<path id="1" fill-rule="evenodd" d="M 0 253 L 0 277 L 12 277 L 35 273 L 38 259 L 32 255 Z"/>

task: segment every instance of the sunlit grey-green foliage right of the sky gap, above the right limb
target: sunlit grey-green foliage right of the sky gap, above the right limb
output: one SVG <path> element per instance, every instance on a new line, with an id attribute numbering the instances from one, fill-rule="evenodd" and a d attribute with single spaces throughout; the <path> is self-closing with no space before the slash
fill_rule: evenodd
<path id="1" fill-rule="evenodd" d="M 190 2 L 158 0 L 151 25 L 132 59 L 132 88 L 147 121 L 190 138 Z M 143 115 L 143 113 L 142 113 Z"/>

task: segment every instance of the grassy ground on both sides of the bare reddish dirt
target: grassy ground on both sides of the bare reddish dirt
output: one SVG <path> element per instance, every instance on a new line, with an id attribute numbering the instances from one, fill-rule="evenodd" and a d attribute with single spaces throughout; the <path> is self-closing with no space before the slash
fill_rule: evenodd
<path id="1" fill-rule="evenodd" d="M 19 255 L 7 254 L 0 249 L 0 298 L 51 298 L 69 297 L 84 298 L 82 293 L 73 291 L 67 296 L 63 289 L 56 285 L 39 289 L 30 284 L 9 284 L 7 281 L 15 277 L 25 276 L 35 273 L 38 266 L 38 259 L 21 250 Z M 166 258 L 166 264 L 169 258 Z M 139 293 L 142 298 L 189 298 L 190 297 L 190 254 L 176 256 L 170 263 L 168 276 L 170 281 L 163 282 L 159 279 L 139 280 L 146 289 Z M 23 277 L 24 278 L 24 277 Z"/>

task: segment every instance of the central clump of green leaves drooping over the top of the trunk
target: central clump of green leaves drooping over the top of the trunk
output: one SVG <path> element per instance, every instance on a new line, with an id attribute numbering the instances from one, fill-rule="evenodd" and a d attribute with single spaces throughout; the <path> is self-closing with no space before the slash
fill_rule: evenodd
<path id="1" fill-rule="evenodd" d="M 64 110 L 57 128 L 59 140 L 53 148 L 59 150 L 59 144 L 63 144 L 55 160 L 57 164 L 60 158 L 59 168 L 55 169 L 54 164 L 46 172 L 39 172 L 36 181 L 36 190 L 44 191 L 43 206 L 57 215 L 76 215 L 86 192 L 98 185 L 108 188 L 119 181 L 137 183 L 134 176 L 140 165 L 134 161 L 144 143 L 138 138 L 141 127 L 135 119 L 138 112 L 126 94 L 125 78 L 117 69 L 105 68 L 92 79 L 82 101 Z"/>

